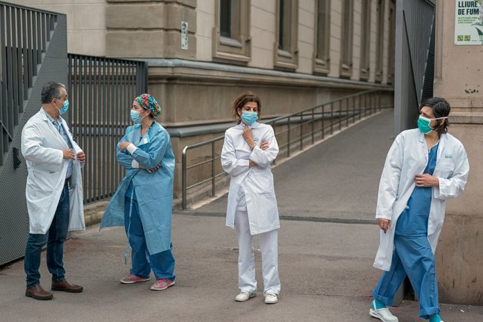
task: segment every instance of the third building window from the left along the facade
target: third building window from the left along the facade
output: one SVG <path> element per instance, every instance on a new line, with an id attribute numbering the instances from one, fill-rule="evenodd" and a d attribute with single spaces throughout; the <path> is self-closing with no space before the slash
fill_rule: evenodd
<path id="1" fill-rule="evenodd" d="M 329 74 L 330 71 L 330 0 L 316 1 L 314 40 L 314 72 Z"/>

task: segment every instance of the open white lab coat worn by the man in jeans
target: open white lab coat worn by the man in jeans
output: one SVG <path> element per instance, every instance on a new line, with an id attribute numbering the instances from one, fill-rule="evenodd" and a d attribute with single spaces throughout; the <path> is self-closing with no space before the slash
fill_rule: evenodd
<path id="1" fill-rule="evenodd" d="M 77 155 L 82 150 L 72 139 L 64 119 L 59 117 L 59 121 L 62 121 Z M 22 155 L 28 170 L 25 194 L 31 234 L 45 234 L 51 226 L 67 173 L 68 162 L 63 158 L 62 149 L 68 148 L 43 109 L 33 115 L 22 129 Z M 80 167 L 80 162 L 74 160 L 69 187 L 69 231 L 85 230 Z"/>

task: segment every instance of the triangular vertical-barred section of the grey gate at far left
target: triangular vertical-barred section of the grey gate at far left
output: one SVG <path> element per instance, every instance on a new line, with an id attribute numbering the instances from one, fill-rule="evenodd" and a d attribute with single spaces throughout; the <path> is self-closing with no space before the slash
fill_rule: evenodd
<path id="1" fill-rule="evenodd" d="M 0 166 L 19 125 L 57 14 L 0 2 Z"/>

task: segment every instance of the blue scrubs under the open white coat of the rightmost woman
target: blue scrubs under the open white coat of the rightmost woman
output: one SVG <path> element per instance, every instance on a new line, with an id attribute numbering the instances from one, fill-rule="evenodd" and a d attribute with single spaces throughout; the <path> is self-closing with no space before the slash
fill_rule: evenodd
<path id="1" fill-rule="evenodd" d="M 439 144 L 430 149 L 424 173 L 432 175 L 436 167 L 438 146 Z M 429 319 L 430 316 L 441 312 L 438 306 L 434 255 L 427 239 L 431 199 L 431 187 L 414 188 L 406 209 L 396 223 L 391 269 L 382 273 L 373 291 L 373 298 L 391 306 L 394 294 L 407 275 L 418 296 L 419 316 L 423 319 Z"/>

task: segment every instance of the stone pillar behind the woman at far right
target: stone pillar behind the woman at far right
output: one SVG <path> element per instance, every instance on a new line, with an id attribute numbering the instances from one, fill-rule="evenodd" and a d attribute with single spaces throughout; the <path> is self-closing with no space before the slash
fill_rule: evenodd
<path id="1" fill-rule="evenodd" d="M 437 1 L 434 96 L 451 105 L 450 133 L 470 162 L 464 193 L 448 201 L 436 251 L 440 301 L 483 305 L 483 45 L 456 46 L 455 1 Z"/>

